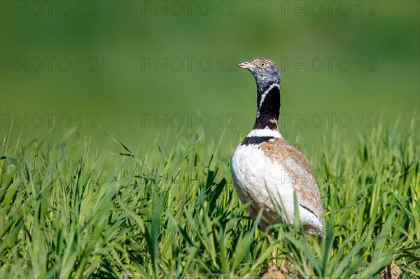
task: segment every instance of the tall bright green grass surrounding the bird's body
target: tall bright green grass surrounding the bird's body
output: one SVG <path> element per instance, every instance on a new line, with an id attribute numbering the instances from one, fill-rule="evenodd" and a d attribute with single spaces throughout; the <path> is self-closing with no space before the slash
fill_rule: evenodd
<path id="1" fill-rule="evenodd" d="M 402 278 L 419 278 L 418 127 L 416 115 L 409 131 L 379 124 L 353 143 L 337 131 L 323 146 L 302 138 L 325 238 L 272 227 L 293 273 L 372 278 L 395 263 Z M 9 135 L 0 149 L 1 278 L 255 278 L 267 269 L 274 246 L 239 202 L 232 148 L 202 131 L 141 156 L 118 141 L 118 152 L 99 152 L 85 139 L 69 145 L 69 135 Z"/>

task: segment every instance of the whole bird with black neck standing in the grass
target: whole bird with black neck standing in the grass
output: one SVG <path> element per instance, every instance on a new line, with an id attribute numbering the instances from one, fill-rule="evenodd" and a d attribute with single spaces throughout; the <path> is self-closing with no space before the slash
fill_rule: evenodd
<path id="1" fill-rule="evenodd" d="M 230 171 L 241 203 L 265 230 L 283 222 L 295 225 L 295 208 L 302 231 L 323 235 L 323 206 L 314 171 L 307 157 L 279 132 L 280 74 L 271 59 L 257 57 L 237 65 L 247 69 L 257 85 L 257 113 L 251 132 L 232 153 Z M 295 207 L 295 197 L 296 207 Z M 269 241 L 270 243 L 271 241 Z M 270 243 L 271 244 L 271 243 Z"/>

